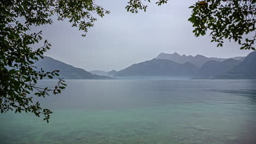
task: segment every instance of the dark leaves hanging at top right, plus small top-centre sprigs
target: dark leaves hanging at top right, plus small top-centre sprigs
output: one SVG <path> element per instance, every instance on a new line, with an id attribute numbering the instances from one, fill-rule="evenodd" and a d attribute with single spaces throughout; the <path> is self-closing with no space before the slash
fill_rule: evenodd
<path id="1" fill-rule="evenodd" d="M 167 1 L 158 0 L 156 4 L 162 5 Z M 147 9 L 141 0 L 130 0 L 128 4 L 126 9 L 132 13 Z M 255 50 L 256 0 L 206 0 L 198 1 L 189 8 L 193 9 L 189 21 L 193 23 L 196 37 L 210 30 L 212 42 L 217 42 L 217 46 L 223 46 L 224 39 L 229 39 L 240 44 L 240 49 Z M 254 35 L 249 37 L 252 32 Z"/>

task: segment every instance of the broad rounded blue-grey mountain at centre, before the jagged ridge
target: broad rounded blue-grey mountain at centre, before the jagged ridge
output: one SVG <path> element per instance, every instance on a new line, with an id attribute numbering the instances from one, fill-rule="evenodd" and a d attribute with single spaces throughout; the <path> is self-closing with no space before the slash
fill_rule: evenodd
<path id="1" fill-rule="evenodd" d="M 191 63 L 179 64 L 167 59 L 152 59 L 132 64 L 114 76 L 193 76 L 199 68 Z"/>

